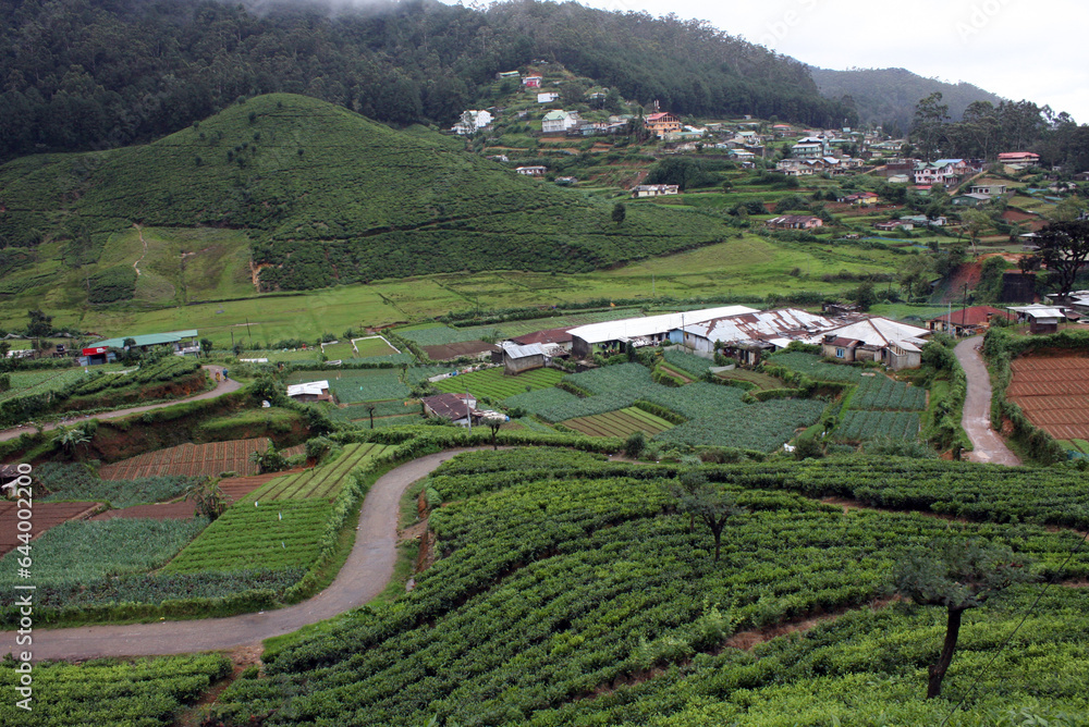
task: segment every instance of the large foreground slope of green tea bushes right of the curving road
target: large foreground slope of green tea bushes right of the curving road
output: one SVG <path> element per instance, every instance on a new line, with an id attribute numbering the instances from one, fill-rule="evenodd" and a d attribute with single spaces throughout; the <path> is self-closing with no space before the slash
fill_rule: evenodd
<path id="1" fill-rule="evenodd" d="M 1084 589 L 1014 587 L 967 613 L 934 700 L 927 665 L 944 611 L 885 600 L 897 560 L 944 538 L 1010 547 L 1038 577 L 1077 584 L 1089 574 L 1079 535 L 989 521 L 1005 519 L 996 510 L 955 522 L 808 496 L 888 478 L 956 500 L 970 478 L 981 491 L 1026 485 L 1023 508 L 1051 520 L 1056 496 L 1084 508 L 1081 488 L 954 463 L 913 473 L 918 464 L 707 467 L 739 506 L 715 562 L 708 529 L 677 512 L 677 466 L 555 449 L 454 459 L 428 483 L 445 503 L 429 519 L 439 559 L 415 589 L 280 643 L 266 676 L 235 682 L 215 710 L 231 725 L 1084 724 Z M 802 638 L 732 640 L 822 613 L 839 617 Z"/>

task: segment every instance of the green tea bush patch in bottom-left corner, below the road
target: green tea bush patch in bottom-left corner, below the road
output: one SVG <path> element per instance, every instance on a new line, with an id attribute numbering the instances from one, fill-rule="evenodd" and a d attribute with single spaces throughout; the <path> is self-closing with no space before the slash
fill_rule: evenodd
<path id="1" fill-rule="evenodd" d="M 41 662 L 34 666 L 35 699 L 33 712 L 28 713 L 15 704 L 21 677 L 15 662 L 3 662 L 0 689 L 9 699 L 0 701 L 0 724 L 169 727 L 185 704 L 230 673 L 231 661 L 218 654 L 133 662 Z"/>

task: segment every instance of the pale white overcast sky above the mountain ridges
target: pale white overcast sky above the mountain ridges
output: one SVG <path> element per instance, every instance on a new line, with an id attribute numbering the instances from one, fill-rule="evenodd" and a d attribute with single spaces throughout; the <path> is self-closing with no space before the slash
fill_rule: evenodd
<path id="1" fill-rule="evenodd" d="M 579 0 L 676 13 L 824 69 L 904 67 L 1089 123 L 1086 0 Z"/>

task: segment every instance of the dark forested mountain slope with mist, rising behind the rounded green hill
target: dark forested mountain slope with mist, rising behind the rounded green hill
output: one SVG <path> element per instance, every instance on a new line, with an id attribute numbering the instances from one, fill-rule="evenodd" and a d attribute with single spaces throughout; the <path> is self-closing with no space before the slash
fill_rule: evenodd
<path id="1" fill-rule="evenodd" d="M 0 0 L 0 159 L 148 141 L 240 96 L 294 93 L 440 125 L 536 59 L 682 114 L 853 120 L 806 66 L 674 15 L 514 0 L 341 9 L 322 0 Z"/>

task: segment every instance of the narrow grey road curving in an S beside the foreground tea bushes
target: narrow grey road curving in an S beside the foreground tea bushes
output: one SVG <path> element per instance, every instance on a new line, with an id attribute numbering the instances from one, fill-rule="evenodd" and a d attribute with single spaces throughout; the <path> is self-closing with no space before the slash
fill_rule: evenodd
<path id="1" fill-rule="evenodd" d="M 445 460 L 469 451 L 472 448 L 449 449 L 420 457 L 380 477 L 364 500 L 358 534 L 347 560 L 329 588 L 308 601 L 278 611 L 227 618 L 34 629 L 34 643 L 29 648 L 16 645 L 15 631 L 3 631 L 0 632 L 0 655 L 19 653 L 19 650 L 32 652 L 34 661 L 87 660 L 233 649 L 291 633 L 308 624 L 357 608 L 381 593 L 393 577 L 401 495 L 409 484 Z"/>

